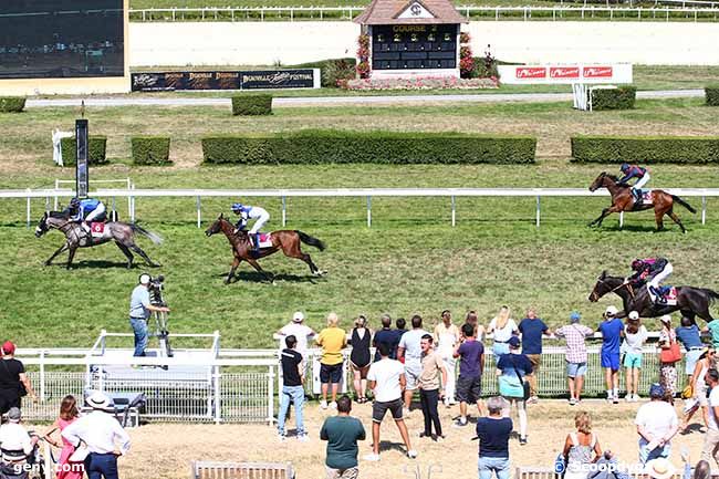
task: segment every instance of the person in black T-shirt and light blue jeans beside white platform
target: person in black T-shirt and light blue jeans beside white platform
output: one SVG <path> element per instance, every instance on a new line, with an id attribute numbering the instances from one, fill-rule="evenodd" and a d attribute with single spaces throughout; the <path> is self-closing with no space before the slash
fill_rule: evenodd
<path id="1" fill-rule="evenodd" d="M 294 424 L 298 429 L 298 439 L 301 441 L 308 440 L 308 435 L 304 430 L 304 421 L 302 414 L 302 406 L 304 405 L 304 364 L 302 354 L 295 347 L 298 340 L 294 334 L 290 334 L 284 339 L 288 347 L 280 353 L 280 363 L 282 365 L 282 395 L 280 396 L 280 412 L 278 413 L 278 435 L 280 440 L 286 437 L 284 430 L 284 421 L 290 410 L 290 403 L 294 403 Z"/>

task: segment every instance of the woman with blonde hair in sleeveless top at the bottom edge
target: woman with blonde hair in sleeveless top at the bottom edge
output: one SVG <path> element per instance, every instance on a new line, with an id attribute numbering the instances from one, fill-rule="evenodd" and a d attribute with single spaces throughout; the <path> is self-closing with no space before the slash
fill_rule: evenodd
<path id="1" fill-rule="evenodd" d="M 564 479 L 585 479 L 587 467 L 602 456 L 602 448 L 596 436 L 592 434 L 592 417 L 582 410 L 574 416 L 576 433 L 566 435 L 562 454 L 566 460 Z"/>

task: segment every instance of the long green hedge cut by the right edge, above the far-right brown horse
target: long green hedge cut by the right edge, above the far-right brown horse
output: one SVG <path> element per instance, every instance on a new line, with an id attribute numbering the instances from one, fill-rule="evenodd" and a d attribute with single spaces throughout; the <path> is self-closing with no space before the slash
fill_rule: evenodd
<path id="1" fill-rule="evenodd" d="M 572 137 L 572 162 L 719 163 L 719 137 Z"/>

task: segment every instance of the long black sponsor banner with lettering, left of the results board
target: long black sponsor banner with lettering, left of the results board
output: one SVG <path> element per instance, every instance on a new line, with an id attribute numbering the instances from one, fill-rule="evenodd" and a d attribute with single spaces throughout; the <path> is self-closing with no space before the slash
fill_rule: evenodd
<path id="1" fill-rule="evenodd" d="M 320 87 L 320 70 L 247 72 L 147 72 L 132 74 L 133 92 Z"/>

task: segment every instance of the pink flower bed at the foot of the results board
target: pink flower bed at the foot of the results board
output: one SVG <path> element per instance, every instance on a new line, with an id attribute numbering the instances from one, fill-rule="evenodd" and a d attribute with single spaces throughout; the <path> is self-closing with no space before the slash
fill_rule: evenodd
<path id="1" fill-rule="evenodd" d="M 346 90 L 476 90 L 497 88 L 499 81 L 491 79 L 455 79 L 450 76 L 417 76 L 413 79 L 357 79 L 340 81 Z"/>

